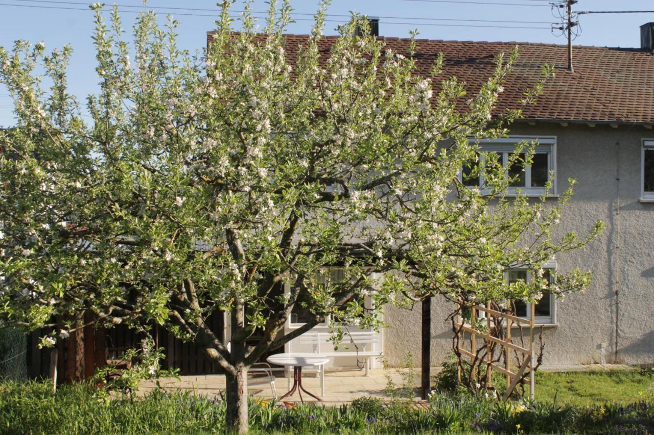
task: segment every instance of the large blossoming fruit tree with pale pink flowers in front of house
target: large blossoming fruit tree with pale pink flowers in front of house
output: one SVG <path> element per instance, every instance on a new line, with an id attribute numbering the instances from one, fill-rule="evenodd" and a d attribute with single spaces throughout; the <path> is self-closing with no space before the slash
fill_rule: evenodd
<path id="1" fill-rule="evenodd" d="M 245 432 L 246 371 L 267 351 L 326 318 L 335 341 L 344 325 L 380 327 L 390 302 L 534 300 L 544 282 L 507 286 L 504 270 L 537 271 L 600 230 L 556 237 L 571 191 L 547 204 L 507 197 L 497 160 L 475 163 L 469 138 L 505 135 L 542 90 L 491 116 L 516 52 L 462 111 L 465 86 L 441 75 L 441 59 L 419 76 L 414 44 L 398 53 L 357 36 L 366 20 L 354 16 L 321 54 L 324 2 L 289 63 L 288 2 L 272 2 L 262 33 L 248 13 L 236 33 L 230 6 L 207 50 L 189 54 L 171 18 L 160 28 L 154 12 L 140 14 L 130 45 L 116 8 L 107 25 L 94 5 L 90 119 L 67 90 L 71 48 L 1 49 L 16 114 L 0 133 L 3 323 L 50 328 L 44 346 L 82 318 L 163 325 L 222 368 L 228 424 Z M 518 148 L 511 160 L 528 163 L 533 146 Z M 484 172 L 490 193 L 464 187 L 462 167 Z M 330 279 L 334 267 L 342 280 Z M 575 271 L 555 291 L 588 282 Z M 313 318 L 284 333 L 298 299 Z M 229 350 L 205 323 L 218 311 L 231 316 Z"/>

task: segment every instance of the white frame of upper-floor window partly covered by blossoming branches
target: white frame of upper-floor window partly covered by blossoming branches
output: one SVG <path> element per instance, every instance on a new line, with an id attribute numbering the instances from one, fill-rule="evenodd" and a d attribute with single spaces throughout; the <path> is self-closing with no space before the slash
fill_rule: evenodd
<path id="1" fill-rule="evenodd" d="M 506 168 L 508 164 L 508 155 L 515 151 L 515 146 L 520 142 L 538 142 L 536 145 L 536 153 L 547 153 L 547 167 L 548 172 L 553 172 L 551 179 L 552 189 L 549 191 L 548 196 L 555 197 L 557 195 L 557 137 L 556 136 L 510 136 L 498 139 L 474 139 L 469 138 L 470 142 L 479 144 L 480 152 L 499 152 L 502 153 L 502 166 Z M 461 171 L 462 174 L 462 171 Z M 531 166 L 525 167 L 525 184 L 530 184 L 531 180 Z M 479 174 L 479 184 L 481 185 L 481 193 L 490 193 L 489 187 L 483 187 L 483 174 Z M 473 187 L 473 186 L 469 186 Z M 509 186 L 508 195 L 517 195 L 521 191 L 527 196 L 538 197 L 545 193 L 545 187 L 526 187 Z"/>

